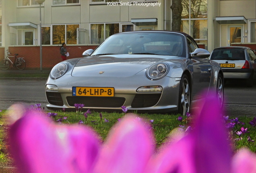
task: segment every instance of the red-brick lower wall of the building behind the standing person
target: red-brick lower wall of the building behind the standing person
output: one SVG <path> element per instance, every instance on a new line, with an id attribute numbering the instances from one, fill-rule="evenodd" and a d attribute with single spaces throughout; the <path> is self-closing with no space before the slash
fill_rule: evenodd
<path id="1" fill-rule="evenodd" d="M 80 58 L 87 49 L 95 49 L 97 45 L 87 46 L 67 46 L 66 49 L 69 52 L 70 58 Z M 40 69 L 40 46 L 10 46 L 9 52 L 14 55 L 18 53 L 17 57 L 24 57 L 26 61 L 26 70 L 38 70 Z M 1 54 L 1 49 L 0 49 Z M 3 59 L 4 56 L 0 56 Z M 14 58 L 10 58 L 12 61 Z M 50 70 L 54 65 L 62 61 L 60 54 L 60 46 L 42 46 L 42 68 L 43 70 Z"/>

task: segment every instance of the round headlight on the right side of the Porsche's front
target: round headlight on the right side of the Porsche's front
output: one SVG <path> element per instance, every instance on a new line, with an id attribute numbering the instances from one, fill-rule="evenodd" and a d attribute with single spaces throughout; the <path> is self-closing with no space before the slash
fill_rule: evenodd
<path id="1" fill-rule="evenodd" d="M 159 62 L 159 63 L 153 64 L 148 68 L 147 76 L 152 80 L 157 80 L 157 79 L 163 78 L 167 74 L 168 70 L 169 70 L 168 64 Z"/>

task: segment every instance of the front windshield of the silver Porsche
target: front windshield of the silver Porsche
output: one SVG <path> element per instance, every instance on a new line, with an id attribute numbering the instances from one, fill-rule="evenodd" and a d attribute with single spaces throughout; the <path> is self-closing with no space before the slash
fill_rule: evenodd
<path id="1" fill-rule="evenodd" d="M 102 54 L 157 54 L 186 57 L 184 36 L 164 32 L 132 32 L 112 35 L 93 55 Z"/>

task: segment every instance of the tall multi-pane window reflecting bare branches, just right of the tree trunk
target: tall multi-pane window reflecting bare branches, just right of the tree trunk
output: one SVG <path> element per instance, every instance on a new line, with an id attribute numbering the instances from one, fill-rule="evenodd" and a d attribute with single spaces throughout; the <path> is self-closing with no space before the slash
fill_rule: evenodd
<path id="1" fill-rule="evenodd" d="M 207 0 L 182 0 L 181 31 L 207 47 Z"/>

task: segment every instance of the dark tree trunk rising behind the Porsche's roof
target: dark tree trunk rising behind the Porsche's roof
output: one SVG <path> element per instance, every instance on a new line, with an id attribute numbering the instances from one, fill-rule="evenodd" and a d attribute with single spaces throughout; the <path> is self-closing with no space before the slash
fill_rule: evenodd
<path id="1" fill-rule="evenodd" d="M 180 31 L 181 19 L 182 19 L 182 0 L 172 0 L 171 12 L 172 12 L 171 30 Z"/>

